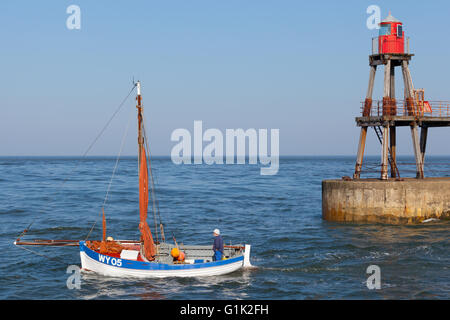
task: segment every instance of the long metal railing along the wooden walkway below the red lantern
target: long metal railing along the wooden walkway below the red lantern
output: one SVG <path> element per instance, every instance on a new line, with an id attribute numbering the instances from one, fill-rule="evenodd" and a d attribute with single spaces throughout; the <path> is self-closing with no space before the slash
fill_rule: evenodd
<path id="1" fill-rule="evenodd" d="M 362 102 L 361 114 L 365 117 L 413 116 L 413 117 L 450 117 L 450 101 L 399 101 L 383 103 L 373 100 L 368 105 Z"/>

